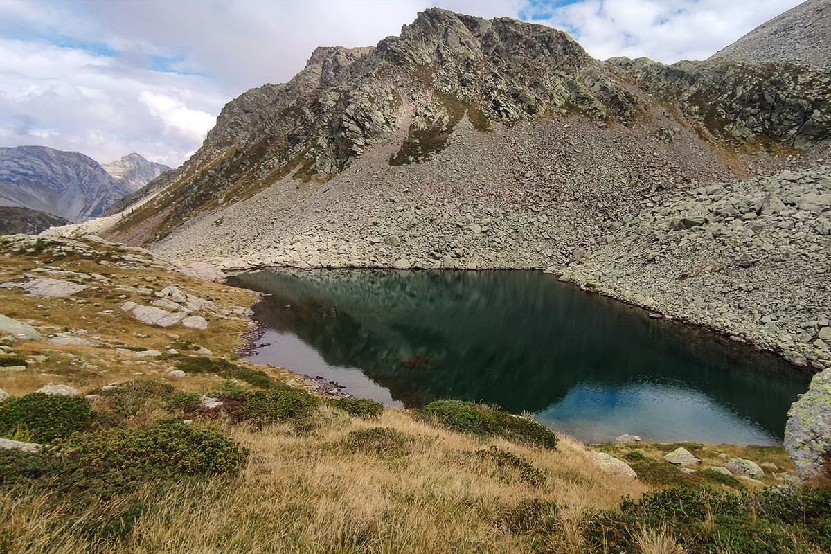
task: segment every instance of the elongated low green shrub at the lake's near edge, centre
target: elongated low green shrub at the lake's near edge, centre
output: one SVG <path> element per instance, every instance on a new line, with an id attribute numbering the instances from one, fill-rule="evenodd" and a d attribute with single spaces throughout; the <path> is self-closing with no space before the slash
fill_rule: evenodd
<path id="1" fill-rule="evenodd" d="M 455 431 L 480 437 L 501 436 L 547 449 L 557 446 L 557 436 L 536 421 L 482 404 L 461 400 L 436 400 L 419 409 L 419 413 L 426 419 Z"/>

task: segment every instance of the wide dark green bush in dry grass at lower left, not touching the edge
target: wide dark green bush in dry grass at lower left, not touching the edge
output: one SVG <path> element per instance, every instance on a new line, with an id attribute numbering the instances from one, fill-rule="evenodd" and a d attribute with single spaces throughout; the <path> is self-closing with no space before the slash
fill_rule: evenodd
<path id="1" fill-rule="evenodd" d="M 160 420 L 150 429 L 79 434 L 58 448 L 84 468 L 137 469 L 148 477 L 237 473 L 248 457 L 248 449 L 224 434 L 176 419 Z"/>

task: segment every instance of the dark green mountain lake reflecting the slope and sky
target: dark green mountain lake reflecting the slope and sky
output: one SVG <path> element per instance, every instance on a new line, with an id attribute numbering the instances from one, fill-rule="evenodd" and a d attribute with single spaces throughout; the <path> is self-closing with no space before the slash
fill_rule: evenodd
<path id="1" fill-rule="evenodd" d="M 267 331 L 253 362 L 391 405 L 499 404 L 587 442 L 777 444 L 810 381 L 541 272 L 268 270 L 230 282 L 272 295 L 255 306 Z"/>

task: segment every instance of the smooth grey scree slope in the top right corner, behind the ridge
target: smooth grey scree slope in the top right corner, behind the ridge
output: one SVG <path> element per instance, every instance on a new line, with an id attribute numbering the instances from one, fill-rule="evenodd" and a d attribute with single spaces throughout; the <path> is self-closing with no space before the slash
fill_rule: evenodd
<path id="1" fill-rule="evenodd" d="M 831 2 L 808 0 L 762 23 L 711 60 L 794 63 L 831 69 Z"/>

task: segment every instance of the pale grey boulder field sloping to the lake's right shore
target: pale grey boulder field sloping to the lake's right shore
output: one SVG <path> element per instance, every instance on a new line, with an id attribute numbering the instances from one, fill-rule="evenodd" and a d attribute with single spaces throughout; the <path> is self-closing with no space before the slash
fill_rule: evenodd
<path id="1" fill-rule="evenodd" d="M 831 168 L 714 184 L 642 210 L 563 279 L 831 366 Z"/>

